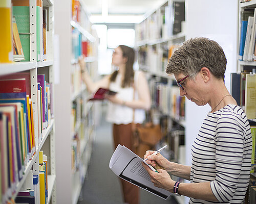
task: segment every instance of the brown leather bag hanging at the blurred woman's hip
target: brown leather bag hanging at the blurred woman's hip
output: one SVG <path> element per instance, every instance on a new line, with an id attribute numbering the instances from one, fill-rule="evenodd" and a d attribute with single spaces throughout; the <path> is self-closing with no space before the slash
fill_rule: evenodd
<path id="1" fill-rule="evenodd" d="M 143 158 L 146 150 L 154 150 L 155 145 L 162 139 L 163 134 L 159 124 L 147 122 L 137 126 L 133 134 L 133 145 L 136 154 Z"/>

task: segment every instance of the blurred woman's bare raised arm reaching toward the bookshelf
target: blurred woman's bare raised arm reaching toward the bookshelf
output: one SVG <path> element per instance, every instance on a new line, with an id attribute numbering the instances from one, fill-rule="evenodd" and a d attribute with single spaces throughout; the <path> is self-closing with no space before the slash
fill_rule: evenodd
<path id="1" fill-rule="evenodd" d="M 82 81 L 86 84 L 86 87 L 90 93 L 96 92 L 100 87 L 105 89 L 109 87 L 110 75 L 106 75 L 101 80 L 93 82 L 86 70 L 84 58 L 79 58 L 79 66 L 81 69 Z"/>

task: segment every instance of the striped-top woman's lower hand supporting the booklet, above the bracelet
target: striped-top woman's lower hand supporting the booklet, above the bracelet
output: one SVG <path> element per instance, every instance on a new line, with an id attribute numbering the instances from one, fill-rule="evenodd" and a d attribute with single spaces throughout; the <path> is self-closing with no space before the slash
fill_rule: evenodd
<path id="1" fill-rule="evenodd" d="M 148 174 L 150 174 L 151 181 L 154 184 L 154 186 L 165 189 L 170 192 L 174 191 L 175 182 L 170 178 L 170 175 L 168 174 L 167 171 L 163 169 L 157 169 L 157 173 L 152 171 L 150 167 L 148 167 L 144 163 L 142 163 L 142 166 L 146 169 Z"/>

